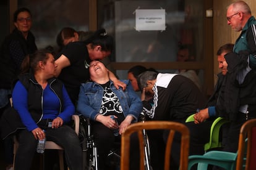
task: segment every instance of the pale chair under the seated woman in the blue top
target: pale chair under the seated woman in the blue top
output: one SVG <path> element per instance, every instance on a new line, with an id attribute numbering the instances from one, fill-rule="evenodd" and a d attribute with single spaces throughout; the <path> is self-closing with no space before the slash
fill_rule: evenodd
<path id="1" fill-rule="evenodd" d="M 75 124 L 75 133 L 78 136 L 79 135 L 79 121 L 80 121 L 79 116 L 78 115 L 73 115 L 72 119 L 74 120 L 74 124 Z M 17 140 L 14 137 L 14 162 L 15 162 L 15 155 L 16 155 L 18 147 L 19 147 L 19 142 L 17 142 Z M 54 143 L 53 141 L 46 141 L 45 142 L 45 150 L 46 149 L 58 150 L 59 166 L 60 166 L 59 168 L 60 168 L 60 170 L 64 170 L 64 158 L 63 158 L 64 148 L 62 148 L 58 144 Z M 14 163 L 13 163 L 13 167 L 14 167 Z M 14 167 L 14 169 L 15 169 L 15 167 Z"/>

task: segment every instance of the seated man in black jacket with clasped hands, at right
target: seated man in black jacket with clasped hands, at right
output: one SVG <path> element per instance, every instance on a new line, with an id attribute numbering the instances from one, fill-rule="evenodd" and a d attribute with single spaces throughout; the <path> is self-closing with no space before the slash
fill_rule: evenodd
<path id="1" fill-rule="evenodd" d="M 226 71 L 222 71 L 221 79 L 217 83 L 218 91 L 215 94 L 218 94 L 218 97 L 207 108 L 200 110 L 194 118 L 195 123 L 202 123 L 213 116 L 228 119 L 229 123 L 222 127 L 223 150 L 237 152 L 242 124 L 247 119 L 256 117 L 256 73 L 250 70 L 244 75 L 243 70 L 249 65 L 247 52 L 241 51 L 236 54 L 229 49 L 218 54 L 218 58 L 220 55 L 223 61 L 221 68 Z"/>

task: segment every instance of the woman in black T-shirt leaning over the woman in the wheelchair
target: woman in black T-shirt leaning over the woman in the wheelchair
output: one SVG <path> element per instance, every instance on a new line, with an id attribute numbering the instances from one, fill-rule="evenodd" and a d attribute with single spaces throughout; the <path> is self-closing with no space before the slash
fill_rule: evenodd
<path id="1" fill-rule="evenodd" d="M 93 60 L 102 60 L 108 57 L 114 48 L 114 40 L 105 29 L 95 31 L 86 41 L 69 42 L 56 56 L 55 76 L 64 83 L 70 99 L 76 105 L 80 84 L 90 80 L 89 63 Z M 126 87 L 111 71 L 109 78 L 118 89 Z"/>

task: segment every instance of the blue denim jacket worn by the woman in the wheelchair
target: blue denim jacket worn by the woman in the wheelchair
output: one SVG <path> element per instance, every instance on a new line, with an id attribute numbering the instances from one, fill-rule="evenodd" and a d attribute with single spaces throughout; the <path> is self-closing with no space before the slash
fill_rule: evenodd
<path id="1" fill-rule="evenodd" d="M 128 80 L 122 80 L 127 84 L 126 90 L 120 87 L 116 89 L 113 81 L 110 81 L 111 90 L 117 95 L 122 106 L 124 116 L 132 115 L 137 121 L 139 114 L 142 112 L 142 101 L 139 95 L 134 92 L 132 85 Z M 101 108 L 104 89 L 100 84 L 95 82 L 83 83 L 80 86 L 79 100 L 77 101 L 77 111 L 83 116 L 95 120 Z"/>

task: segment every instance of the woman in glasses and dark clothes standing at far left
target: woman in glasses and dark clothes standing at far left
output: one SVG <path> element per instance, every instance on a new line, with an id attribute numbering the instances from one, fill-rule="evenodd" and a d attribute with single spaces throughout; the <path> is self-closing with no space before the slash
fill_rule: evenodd
<path id="1" fill-rule="evenodd" d="M 12 81 L 20 72 L 20 64 L 25 55 L 32 54 L 37 50 L 35 37 L 30 31 L 32 27 L 32 14 L 29 9 L 22 7 L 14 12 L 15 28 L 1 44 L 0 48 L 0 116 L 3 111 L 11 107 L 9 97 L 11 96 Z M 12 139 L 4 140 L 7 169 L 12 166 Z"/>

